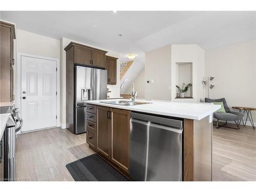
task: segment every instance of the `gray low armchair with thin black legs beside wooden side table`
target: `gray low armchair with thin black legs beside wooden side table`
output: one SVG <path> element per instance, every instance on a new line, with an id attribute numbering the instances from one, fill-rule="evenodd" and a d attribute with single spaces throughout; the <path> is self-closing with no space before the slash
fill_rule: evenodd
<path id="1" fill-rule="evenodd" d="M 244 117 L 244 114 L 239 113 L 239 112 L 230 111 L 225 98 L 221 98 L 221 99 L 205 98 L 205 102 L 223 102 L 224 109 L 225 109 L 226 113 L 217 113 L 217 112 L 214 113 L 214 118 L 217 119 L 217 124 L 216 124 L 217 128 L 219 128 L 221 126 L 225 126 L 227 124 L 227 121 L 234 121 L 238 126 L 237 130 L 240 129 L 239 121 Z M 224 121 L 226 121 L 226 123 L 223 125 L 219 125 L 219 120 L 224 120 Z M 225 126 L 225 127 L 234 129 L 233 127 L 229 127 L 229 126 Z"/>

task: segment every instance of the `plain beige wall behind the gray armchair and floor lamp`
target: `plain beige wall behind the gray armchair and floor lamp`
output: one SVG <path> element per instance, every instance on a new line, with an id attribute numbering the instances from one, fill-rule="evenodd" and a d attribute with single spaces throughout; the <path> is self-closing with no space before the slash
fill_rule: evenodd
<path id="1" fill-rule="evenodd" d="M 256 40 L 205 50 L 205 76 L 210 75 L 215 76 L 210 98 L 225 97 L 229 107 L 256 108 Z"/>

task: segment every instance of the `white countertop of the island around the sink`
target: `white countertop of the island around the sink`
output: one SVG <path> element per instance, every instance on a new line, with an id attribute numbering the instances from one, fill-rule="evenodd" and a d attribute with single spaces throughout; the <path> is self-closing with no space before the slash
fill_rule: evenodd
<path id="1" fill-rule="evenodd" d="M 123 99 L 111 99 L 123 100 Z M 124 106 L 116 104 L 102 103 L 101 101 L 110 100 L 90 100 L 89 104 L 96 104 L 101 106 L 109 106 L 111 108 L 151 113 L 157 115 L 165 115 L 171 117 L 180 117 L 185 119 L 201 120 L 208 115 L 216 112 L 221 108 L 221 105 L 212 103 L 186 103 L 186 102 L 172 102 L 172 101 L 152 101 L 152 100 L 136 100 L 139 102 L 149 102 L 148 104 L 140 104 L 133 106 Z"/>

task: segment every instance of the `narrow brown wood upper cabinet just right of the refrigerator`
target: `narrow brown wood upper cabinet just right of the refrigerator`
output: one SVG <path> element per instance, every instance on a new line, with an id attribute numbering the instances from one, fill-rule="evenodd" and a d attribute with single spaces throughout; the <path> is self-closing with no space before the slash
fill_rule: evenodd
<path id="1" fill-rule="evenodd" d="M 106 70 L 108 70 L 108 84 L 116 84 L 117 59 L 118 58 L 106 56 Z"/>

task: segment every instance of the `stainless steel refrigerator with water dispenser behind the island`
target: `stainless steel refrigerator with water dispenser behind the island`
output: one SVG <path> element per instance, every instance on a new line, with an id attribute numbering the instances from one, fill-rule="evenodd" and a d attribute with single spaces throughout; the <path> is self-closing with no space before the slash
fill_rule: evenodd
<path id="1" fill-rule="evenodd" d="M 86 132 L 87 101 L 106 99 L 106 80 L 106 70 L 75 67 L 75 134 Z"/>

